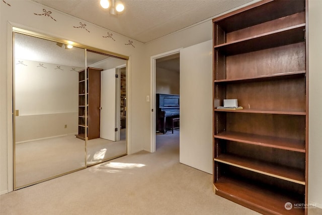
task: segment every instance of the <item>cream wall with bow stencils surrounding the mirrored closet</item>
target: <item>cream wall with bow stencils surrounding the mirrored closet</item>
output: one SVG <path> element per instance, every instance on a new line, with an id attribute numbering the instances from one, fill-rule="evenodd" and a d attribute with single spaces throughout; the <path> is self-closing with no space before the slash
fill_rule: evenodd
<path id="1" fill-rule="evenodd" d="M 131 38 L 103 29 L 84 20 L 63 14 L 32 1 L 6 0 L 11 6 L 0 2 L 0 194 L 12 190 L 12 26 L 33 30 L 36 32 L 68 39 L 77 43 L 92 46 L 125 56 L 129 56 L 128 84 L 128 153 L 141 151 L 149 143 L 149 104 L 145 95 L 149 92 L 149 82 L 143 82 L 146 74 L 142 69 L 144 46 Z M 43 9 L 51 11 L 50 16 L 37 16 Z M 84 28 L 79 22 L 86 24 Z M 113 39 L 104 38 L 107 33 L 113 33 Z M 132 45 L 128 44 L 129 40 Z M 146 76 L 145 76 L 146 77 Z M 143 79 L 144 80 L 144 79 Z M 148 81 L 148 79 L 146 79 Z M 131 114 L 134 112 L 135 114 Z M 132 117 L 131 117 L 132 115 Z M 137 126 L 140 124 L 140 126 Z M 132 126 L 136 125 L 136 126 Z M 9 161 L 9 162 L 8 162 Z M 9 166 L 8 166 L 9 165 Z M 8 180 L 9 178 L 9 180 Z"/>

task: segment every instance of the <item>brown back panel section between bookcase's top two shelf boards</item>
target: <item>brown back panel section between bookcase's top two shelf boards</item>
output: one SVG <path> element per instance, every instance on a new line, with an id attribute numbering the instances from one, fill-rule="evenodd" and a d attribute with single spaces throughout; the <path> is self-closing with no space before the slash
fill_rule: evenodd
<path id="1" fill-rule="evenodd" d="M 305 42 L 226 57 L 226 79 L 305 70 Z"/>

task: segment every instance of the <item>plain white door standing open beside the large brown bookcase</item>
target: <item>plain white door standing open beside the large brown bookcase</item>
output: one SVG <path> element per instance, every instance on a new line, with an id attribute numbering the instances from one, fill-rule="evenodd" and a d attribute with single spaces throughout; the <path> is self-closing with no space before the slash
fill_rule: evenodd
<path id="1" fill-rule="evenodd" d="M 212 40 L 180 50 L 180 162 L 212 174 Z"/>

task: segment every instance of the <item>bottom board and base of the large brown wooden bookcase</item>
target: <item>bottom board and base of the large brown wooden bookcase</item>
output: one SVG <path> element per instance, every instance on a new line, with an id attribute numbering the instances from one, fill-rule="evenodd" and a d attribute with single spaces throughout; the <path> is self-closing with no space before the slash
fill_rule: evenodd
<path id="1" fill-rule="evenodd" d="M 244 205 L 263 214 L 304 214 L 304 209 L 285 209 L 285 203 L 304 203 L 301 195 L 289 192 L 274 191 L 251 182 L 245 182 L 228 177 L 221 177 L 214 183 L 217 195 Z"/>

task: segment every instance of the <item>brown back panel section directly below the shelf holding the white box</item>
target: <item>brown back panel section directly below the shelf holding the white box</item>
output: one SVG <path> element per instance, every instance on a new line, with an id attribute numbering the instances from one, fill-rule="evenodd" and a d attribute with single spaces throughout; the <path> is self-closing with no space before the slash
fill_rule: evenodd
<path id="1" fill-rule="evenodd" d="M 226 130 L 305 140 L 305 116 L 226 113 Z"/>

